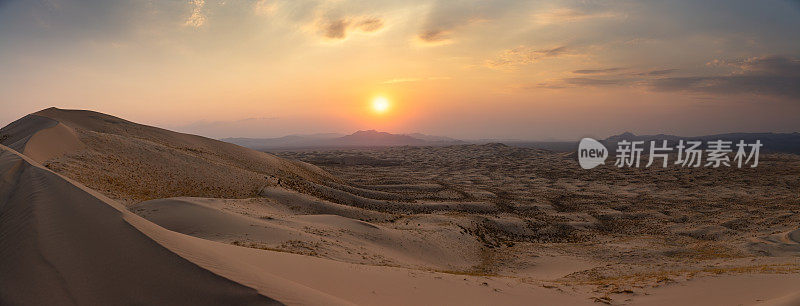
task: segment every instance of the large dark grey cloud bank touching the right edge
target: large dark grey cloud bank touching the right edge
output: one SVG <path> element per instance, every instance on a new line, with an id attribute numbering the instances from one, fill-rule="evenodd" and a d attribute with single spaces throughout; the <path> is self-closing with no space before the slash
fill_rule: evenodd
<path id="1" fill-rule="evenodd" d="M 656 91 L 756 94 L 800 98 L 800 60 L 784 56 L 724 62 L 738 70 L 728 75 L 659 78 Z"/>

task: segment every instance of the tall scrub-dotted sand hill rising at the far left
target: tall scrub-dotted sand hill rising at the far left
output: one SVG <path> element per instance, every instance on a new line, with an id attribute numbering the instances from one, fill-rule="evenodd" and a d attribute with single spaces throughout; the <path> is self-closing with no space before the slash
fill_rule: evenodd
<path id="1" fill-rule="evenodd" d="M 307 163 L 83 110 L 28 115 L 0 130 L 0 144 L 125 204 L 252 197 L 270 176 L 287 184 L 335 180 Z"/>

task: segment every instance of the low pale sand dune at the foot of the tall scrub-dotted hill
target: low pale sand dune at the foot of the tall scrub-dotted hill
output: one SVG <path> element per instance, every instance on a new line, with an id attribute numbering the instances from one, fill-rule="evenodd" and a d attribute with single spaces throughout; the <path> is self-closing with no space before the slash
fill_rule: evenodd
<path id="1" fill-rule="evenodd" d="M 257 199 L 173 198 L 142 202 L 131 210 L 203 239 L 350 263 L 460 271 L 480 262 L 481 242 L 452 223 L 458 220 L 444 216 L 417 217 L 414 226 L 407 226 L 403 220 L 369 223 L 335 214 L 283 213 L 273 208 L 278 205 Z"/>

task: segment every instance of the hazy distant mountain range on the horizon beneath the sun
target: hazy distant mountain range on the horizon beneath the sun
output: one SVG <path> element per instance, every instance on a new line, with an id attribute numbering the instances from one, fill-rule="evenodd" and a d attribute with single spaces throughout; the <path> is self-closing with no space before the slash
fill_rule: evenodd
<path id="1" fill-rule="evenodd" d="M 376 130 L 358 131 L 350 135 L 326 133 L 289 135 L 278 138 L 223 138 L 222 141 L 256 150 L 332 148 L 332 147 L 386 147 L 386 146 L 443 146 L 466 142 L 444 136 L 420 133 L 391 134 Z"/>

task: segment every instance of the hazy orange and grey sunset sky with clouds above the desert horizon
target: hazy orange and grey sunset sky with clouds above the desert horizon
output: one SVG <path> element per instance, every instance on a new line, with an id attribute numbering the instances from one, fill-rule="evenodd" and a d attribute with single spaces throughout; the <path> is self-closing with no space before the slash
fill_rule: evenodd
<path id="1" fill-rule="evenodd" d="M 0 126 L 51 106 L 213 138 L 798 132 L 800 1 L 0 0 Z"/>

